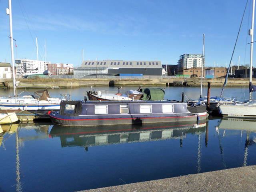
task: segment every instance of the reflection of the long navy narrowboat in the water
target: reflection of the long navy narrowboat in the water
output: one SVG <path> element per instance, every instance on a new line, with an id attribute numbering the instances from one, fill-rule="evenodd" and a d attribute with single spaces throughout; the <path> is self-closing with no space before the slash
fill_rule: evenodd
<path id="1" fill-rule="evenodd" d="M 89 146 L 146 142 L 172 138 L 180 138 L 180 145 L 182 147 L 182 139 L 186 137 L 187 133 L 204 132 L 205 127 L 206 120 L 79 128 L 54 125 L 49 137 L 60 137 L 62 147 L 83 146 L 86 151 Z"/>

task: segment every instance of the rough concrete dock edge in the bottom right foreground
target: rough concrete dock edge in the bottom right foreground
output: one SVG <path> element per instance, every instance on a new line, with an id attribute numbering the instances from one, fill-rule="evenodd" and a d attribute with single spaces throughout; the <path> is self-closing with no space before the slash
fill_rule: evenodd
<path id="1" fill-rule="evenodd" d="M 83 192 L 255 192 L 256 165 L 147 182 L 84 190 Z"/>

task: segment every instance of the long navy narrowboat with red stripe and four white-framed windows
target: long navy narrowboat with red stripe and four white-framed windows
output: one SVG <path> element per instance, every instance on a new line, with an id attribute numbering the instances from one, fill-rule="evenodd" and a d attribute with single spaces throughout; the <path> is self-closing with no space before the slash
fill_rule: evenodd
<path id="1" fill-rule="evenodd" d="M 62 101 L 60 111 L 48 112 L 54 124 L 99 126 L 182 122 L 207 118 L 206 106 L 187 106 L 186 102 L 157 101 Z"/>

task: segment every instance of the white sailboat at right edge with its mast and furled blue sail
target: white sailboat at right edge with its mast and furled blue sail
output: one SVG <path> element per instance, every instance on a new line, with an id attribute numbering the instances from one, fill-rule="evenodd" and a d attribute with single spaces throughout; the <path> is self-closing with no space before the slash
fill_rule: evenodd
<path id="1" fill-rule="evenodd" d="M 252 3 L 252 28 L 249 30 L 251 36 L 250 50 L 250 81 L 249 81 L 249 100 L 246 102 L 235 102 L 234 104 L 220 105 L 220 114 L 232 118 L 254 118 L 256 119 L 256 100 L 252 100 L 252 92 L 256 91 L 256 86 L 252 85 L 252 50 L 253 50 L 253 33 L 254 33 L 254 9 L 255 0 Z M 234 53 L 234 52 L 233 52 Z M 227 77 L 226 77 L 227 81 Z M 224 83 L 224 86 L 226 84 Z M 223 88 L 224 88 L 223 86 Z M 223 92 L 223 89 L 222 89 Z"/>

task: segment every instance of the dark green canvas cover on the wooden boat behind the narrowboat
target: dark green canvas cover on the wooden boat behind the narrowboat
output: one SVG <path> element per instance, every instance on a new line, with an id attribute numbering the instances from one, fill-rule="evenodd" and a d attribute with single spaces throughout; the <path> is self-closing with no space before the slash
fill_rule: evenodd
<path id="1" fill-rule="evenodd" d="M 143 93 L 142 100 L 163 100 L 164 89 L 163 88 L 142 88 L 140 92 Z"/>

